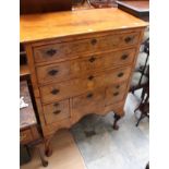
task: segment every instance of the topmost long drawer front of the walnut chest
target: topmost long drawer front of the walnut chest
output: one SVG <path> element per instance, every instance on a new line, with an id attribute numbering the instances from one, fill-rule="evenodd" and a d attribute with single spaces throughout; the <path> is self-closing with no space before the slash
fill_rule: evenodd
<path id="1" fill-rule="evenodd" d="M 34 48 L 35 62 L 62 61 L 77 58 L 83 55 L 109 51 L 120 47 L 135 45 L 138 41 L 140 32 L 125 34 L 110 34 L 102 37 L 73 40 L 45 45 Z"/>

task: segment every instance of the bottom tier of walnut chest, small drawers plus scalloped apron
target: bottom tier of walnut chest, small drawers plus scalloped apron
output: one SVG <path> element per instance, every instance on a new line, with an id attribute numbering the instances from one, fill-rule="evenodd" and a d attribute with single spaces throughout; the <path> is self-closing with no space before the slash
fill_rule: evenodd
<path id="1" fill-rule="evenodd" d="M 61 128 L 70 128 L 86 114 L 105 114 L 111 110 L 116 111 L 119 105 L 121 107 L 117 113 L 122 114 L 126 85 L 128 81 L 124 81 L 107 87 L 90 89 L 69 99 L 44 105 L 45 135 Z"/>

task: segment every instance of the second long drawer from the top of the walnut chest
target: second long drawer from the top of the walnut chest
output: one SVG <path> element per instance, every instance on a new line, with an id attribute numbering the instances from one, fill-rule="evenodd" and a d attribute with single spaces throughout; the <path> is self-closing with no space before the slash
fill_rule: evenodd
<path id="1" fill-rule="evenodd" d="M 48 82 L 61 82 L 94 71 L 132 63 L 135 49 L 126 49 L 116 52 L 92 55 L 83 59 L 76 59 L 45 67 L 37 67 L 37 79 L 40 84 Z"/>

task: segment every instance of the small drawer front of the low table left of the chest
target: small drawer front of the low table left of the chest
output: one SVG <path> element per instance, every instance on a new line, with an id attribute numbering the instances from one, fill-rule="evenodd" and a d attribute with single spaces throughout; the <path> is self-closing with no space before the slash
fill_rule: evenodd
<path id="1" fill-rule="evenodd" d="M 34 140 L 33 135 L 32 135 L 32 131 L 31 129 L 24 130 L 20 132 L 20 142 L 22 144 L 26 144 L 29 143 Z"/>

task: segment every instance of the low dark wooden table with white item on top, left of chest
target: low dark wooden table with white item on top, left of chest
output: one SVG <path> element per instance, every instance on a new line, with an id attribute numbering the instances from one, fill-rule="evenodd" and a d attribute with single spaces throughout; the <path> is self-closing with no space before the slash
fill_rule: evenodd
<path id="1" fill-rule="evenodd" d="M 35 112 L 33 109 L 28 86 L 26 81 L 20 82 L 20 97 L 24 97 L 23 100 L 28 104 L 28 107 L 20 109 L 20 144 L 24 149 L 29 147 L 36 147 L 39 152 L 41 164 L 44 167 L 48 166 L 48 161 L 44 157 L 44 140 L 41 137 L 38 124 L 36 121 Z M 22 154 L 21 154 L 22 155 Z"/>

